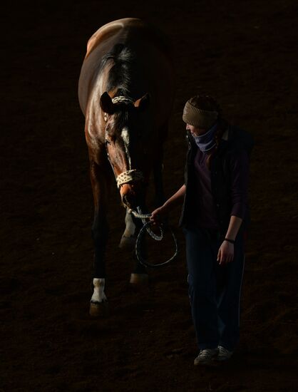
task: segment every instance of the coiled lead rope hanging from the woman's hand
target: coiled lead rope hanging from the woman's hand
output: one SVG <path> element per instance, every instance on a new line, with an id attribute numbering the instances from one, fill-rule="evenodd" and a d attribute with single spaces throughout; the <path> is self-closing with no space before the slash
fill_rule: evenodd
<path id="1" fill-rule="evenodd" d="M 147 260 L 143 259 L 143 257 L 140 255 L 141 239 L 143 239 L 145 231 L 147 231 L 148 234 L 150 235 L 150 237 L 152 237 L 156 241 L 161 241 L 163 239 L 164 232 L 163 232 L 162 225 L 160 225 L 160 226 L 158 226 L 158 228 L 160 229 L 160 235 L 153 233 L 153 231 L 150 229 L 150 225 L 152 225 L 152 223 L 150 221 L 146 222 L 146 220 L 149 219 L 151 215 L 150 214 L 142 214 L 140 207 L 137 207 L 137 210 L 138 210 L 138 212 L 136 212 L 134 210 L 128 210 L 128 213 L 133 214 L 134 217 L 141 219 L 143 222 L 143 227 L 140 229 L 140 232 L 138 233 L 137 240 L 135 242 L 135 254 L 138 259 L 138 262 L 140 262 L 140 264 L 143 264 L 145 267 L 150 267 L 150 268 L 163 267 L 164 265 L 169 264 L 170 262 L 173 262 L 178 255 L 178 243 L 177 243 L 177 239 L 175 237 L 175 234 L 173 233 L 173 230 L 170 228 L 169 228 L 170 234 L 172 234 L 172 237 L 173 237 L 174 243 L 175 243 L 175 253 L 173 254 L 172 257 L 170 257 L 170 259 L 168 259 L 167 261 L 165 261 L 163 263 L 151 264 Z"/>

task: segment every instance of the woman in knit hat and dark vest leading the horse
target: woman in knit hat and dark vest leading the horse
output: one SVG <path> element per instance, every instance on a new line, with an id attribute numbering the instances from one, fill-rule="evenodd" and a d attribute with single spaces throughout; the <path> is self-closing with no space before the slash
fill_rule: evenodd
<path id="1" fill-rule="evenodd" d="M 195 365 L 232 356 L 239 341 L 244 236 L 249 220 L 247 182 L 252 138 L 229 125 L 210 96 L 190 98 L 185 183 L 152 212 L 158 223 L 183 202 L 192 319 L 199 354 Z"/>

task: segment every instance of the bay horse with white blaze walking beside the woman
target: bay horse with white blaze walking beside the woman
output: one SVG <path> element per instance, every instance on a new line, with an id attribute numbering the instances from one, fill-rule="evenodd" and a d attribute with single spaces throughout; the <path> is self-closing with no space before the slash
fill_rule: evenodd
<path id="1" fill-rule="evenodd" d="M 113 178 L 127 208 L 120 247 L 135 242 L 140 227 L 135 227 L 129 209 L 145 209 L 150 173 L 155 184 L 155 204 L 163 204 L 163 142 L 173 107 L 174 84 L 167 40 L 145 21 L 136 18 L 112 21 L 89 39 L 78 81 L 78 99 L 86 118 L 94 199 L 92 316 L 101 314 L 107 302 L 106 213 Z M 136 262 L 130 283 L 147 279 L 145 267 Z"/>

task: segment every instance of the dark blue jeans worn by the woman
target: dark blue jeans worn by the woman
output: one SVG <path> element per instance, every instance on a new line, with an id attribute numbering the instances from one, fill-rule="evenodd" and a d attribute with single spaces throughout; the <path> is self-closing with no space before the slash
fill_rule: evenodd
<path id="1" fill-rule="evenodd" d="M 240 292 L 244 270 L 243 238 L 238 235 L 232 262 L 219 265 L 218 232 L 184 227 L 192 320 L 199 349 L 218 345 L 233 351 L 239 341 Z"/>

